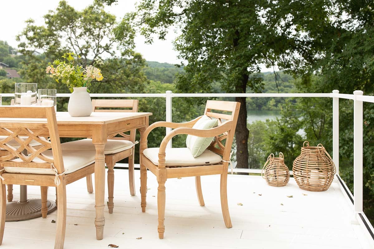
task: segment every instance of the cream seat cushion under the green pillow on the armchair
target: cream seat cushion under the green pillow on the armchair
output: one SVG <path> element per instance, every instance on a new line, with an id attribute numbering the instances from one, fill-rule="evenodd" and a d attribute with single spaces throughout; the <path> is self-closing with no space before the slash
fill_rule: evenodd
<path id="1" fill-rule="evenodd" d="M 148 148 L 143 151 L 154 165 L 159 165 L 159 149 Z M 222 161 L 220 155 L 214 152 L 205 150 L 200 156 L 194 158 L 188 148 L 166 148 L 165 150 L 165 165 L 166 166 L 202 166 L 217 164 Z"/>

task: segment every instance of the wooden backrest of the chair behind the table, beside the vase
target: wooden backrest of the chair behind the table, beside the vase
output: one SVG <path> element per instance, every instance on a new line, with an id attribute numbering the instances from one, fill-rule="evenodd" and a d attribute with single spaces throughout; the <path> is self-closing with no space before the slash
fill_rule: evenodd
<path id="1" fill-rule="evenodd" d="M 137 99 L 93 99 L 93 112 L 138 112 L 139 100 Z M 103 109 L 97 109 L 103 108 Z M 129 109 L 104 109 L 104 108 L 129 108 Z M 120 135 L 121 137 L 114 136 Z M 125 133 L 112 134 L 109 138 L 116 140 L 129 140 L 135 142 L 136 129 L 130 131 L 130 135 Z"/>

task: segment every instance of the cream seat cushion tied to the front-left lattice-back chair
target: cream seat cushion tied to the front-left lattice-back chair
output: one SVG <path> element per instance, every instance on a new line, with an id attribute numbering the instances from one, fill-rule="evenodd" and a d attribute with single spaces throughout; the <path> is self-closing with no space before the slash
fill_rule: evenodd
<path id="1" fill-rule="evenodd" d="M 53 158 L 52 150 L 46 150 L 43 154 L 50 158 Z M 69 174 L 95 162 L 95 152 L 91 150 L 85 150 L 85 151 L 64 150 L 62 151 L 62 160 L 64 161 L 65 174 Z M 22 160 L 19 158 L 14 159 L 12 161 L 22 162 Z M 43 163 L 45 161 L 39 158 L 35 158 L 33 162 Z M 4 169 L 5 169 L 5 172 L 8 172 L 8 173 L 45 174 L 45 175 L 55 174 L 55 172 L 52 169 L 22 168 L 22 167 L 4 167 Z"/>

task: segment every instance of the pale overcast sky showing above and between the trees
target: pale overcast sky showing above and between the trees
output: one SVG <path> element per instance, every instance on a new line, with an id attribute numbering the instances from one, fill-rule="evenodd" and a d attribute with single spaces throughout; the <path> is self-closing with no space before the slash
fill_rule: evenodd
<path id="1" fill-rule="evenodd" d="M 135 10 L 135 4 L 139 0 L 119 0 L 116 5 L 106 7 L 109 13 L 117 16 L 120 20 L 124 13 Z M 82 10 L 93 0 L 67 0 L 68 4 L 77 10 Z M 1 32 L 0 40 L 7 41 L 12 47 L 17 48 L 16 35 L 25 28 L 27 19 L 34 19 L 37 25 L 43 25 L 43 16 L 49 10 L 56 9 L 59 0 L 9 0 L 1 1 Z M 172 41 L 175 38 L 174 32 L 169 32 L 165 41 L 154 39 L 153 44 L 144 44 L 144 38 L 137 35 L 135 38 L 136 51 L 141 53 L 148 61 L 168 62 L 179 64 L 178 53 L 173 50 Z M 264 66 L 261 71 L 270 71 Z"/>

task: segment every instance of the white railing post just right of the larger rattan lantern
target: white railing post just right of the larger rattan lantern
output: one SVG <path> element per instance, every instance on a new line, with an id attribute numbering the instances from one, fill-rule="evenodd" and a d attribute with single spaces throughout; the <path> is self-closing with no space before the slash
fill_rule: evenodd
<path id="1" fill-rule="evenodd" d="M 333 90 L 333 94 L 338 94 L 339 90 Z M 339 97 L 332 96 L 332 160 L 334 161 L 336 172 L 339 174 Z"/>

